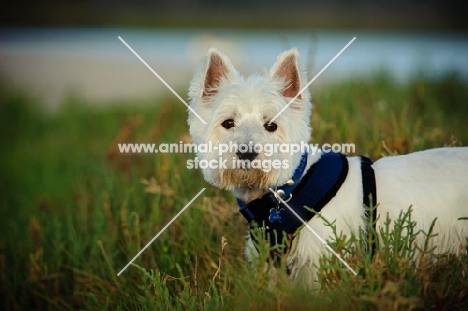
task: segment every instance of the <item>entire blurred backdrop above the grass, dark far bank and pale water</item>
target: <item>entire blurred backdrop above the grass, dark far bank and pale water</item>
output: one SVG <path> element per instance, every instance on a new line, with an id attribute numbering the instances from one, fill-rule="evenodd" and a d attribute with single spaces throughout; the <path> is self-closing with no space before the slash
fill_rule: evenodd
<path id="1" fill-rule="evenodd" d="M 145 98 L 182 90 L 210 46 L 245 74 L 297 47 L 309 76 L 357 40 L 318 83 L 387 71 L 396 81 L 456 71 L 468 78 L 468 5 L 463 1 L 44 1 L 0 12 L 0 78 L 55 109 L 87 99 Z"/>

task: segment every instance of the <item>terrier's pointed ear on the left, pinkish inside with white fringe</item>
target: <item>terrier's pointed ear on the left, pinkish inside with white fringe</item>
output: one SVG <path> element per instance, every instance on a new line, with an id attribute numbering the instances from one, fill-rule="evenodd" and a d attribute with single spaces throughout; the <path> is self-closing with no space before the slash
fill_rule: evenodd
<path id="1" fill-rule="evenodd" d="M 210 48 L 205 59 L 205 72 L 201 96 L 213 96 L 218 93 L 219 83 L 235 69 L 229 58 L 217 48 Z"/>

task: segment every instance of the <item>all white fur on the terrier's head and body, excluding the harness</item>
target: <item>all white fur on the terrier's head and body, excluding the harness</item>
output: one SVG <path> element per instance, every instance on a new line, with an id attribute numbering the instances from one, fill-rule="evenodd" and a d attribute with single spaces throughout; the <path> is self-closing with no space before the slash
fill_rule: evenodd
<path id="1" fill-rule="evenodd" d="M 286 51 L 278 56 L 268 73 L 245 78 L 234 69 L 222 52 L 210 49 L 190 84 L 190 105 L 208 123 L 204 125 L 189 112 L 188 123 L 193 141 L 196 144 L 212 141 L 215 145 L 229 141 L 238 144 L 249 141 L 262 144 L 307 142 L 311 134 L 308 91 L 278 117 L 275 121 L 278 124 L 276 132 L 268 132 L 263 127 L 290 100 L 283 96 L 283 92 L 291 81 L 286 81 L 287 75 L 282 75 L 282 70 L 297 70 L 301 88 L 307 82 L 297 58 L 297 50 Z M 218 82 L 215 87 L 210 86 L 208 89 L 204 84 L 209 68 L 213 65 L 211 60 L 221 60 L 222 65 L 218 66 L 217 62 L 215 69 L 224 68 L 224 71 L 219 76 L 219 81 L 216 80 Z M 290 60 L 294 61 L 288 62 Z M 289 67 L 285 67 L 285 63 Z M 204 96 L 210 90 L 215 90 L 214 95 Z M 235 127 L 222 127 L 221 123 L 226 119 L 234 119 Z M 198 153 L 198 157 L 217 159 L 219 155 L 214 151 Z M 235 153 L 223 155 L 225 159 L 235 157 Z M 284 184 L 292 176 L 300 157 L 300 153 L 292 156 L 278 153 L 270 157 L 259 154 L 258 159 L 286 159 L 291 164 L 288 169 L 272 170 L 262 176 L 266 183 L 261 185 L 233 183 L 223 179 L 223 170 L 205 169 L 203 174 L 211 184 L 231 189 L 238 198 L 249 202 L 261 197 L 268 191 L 268 187 Z M 309 154 L 307 169 L 319 157 L 319 154 Z M 349 172 L 345 182 L 321 211 L 325 219 L 336 221 L 338 233 L 347 237 L 352 233 L 357 234 L 359 228 L 365 228 L 360 159 L 350 157 L 348 162 Z M 377 161 L 373 168 L 379 204 L 377 229 L 384 226 L 387 215 L 396 219 L 401 211 L 407 211 L 411 206 L 416 230 L 427 232 L 434 218 L 437 218 L 434 233 L 438 235 L 432 239 L 437 252 L 460 252 L 468 237 L 466 221 L 458 220 L 468 216 L 468 148 L 440 148 L 387 157 Z M 314 217 L 309 225 L 325 240 L 333 238 L 331 229 L 319 217 Z M 417 243 L 421 245 L 423 241 Z M 312 284 L 316 280 L 314 265 L 318 264 L 319 258 L 327 254 L 327 251 L 308 230 L 301 230 L 294 240 L 292 250 L 294 253 L 289 258 L 293 263 L 292 275 Z M 255 254 L 256 251 L 249 241 L 247 254 L 252 253 Z"/>

